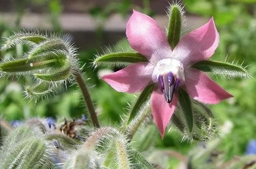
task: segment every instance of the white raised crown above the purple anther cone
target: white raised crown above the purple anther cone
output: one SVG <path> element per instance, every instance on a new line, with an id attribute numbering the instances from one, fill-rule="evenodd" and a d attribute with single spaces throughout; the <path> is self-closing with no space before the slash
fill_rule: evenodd
<path id="1" fill-rule="evenodd" d="M 159 75 L 164 75 L 166 73 L 176 75 L 181 83 L 184 83 L 185 81 L 183 64 L 177 59 L 165 58 L 158 61 L 152 74 L 152 81 L 155 83 L 158 82 Z"/>

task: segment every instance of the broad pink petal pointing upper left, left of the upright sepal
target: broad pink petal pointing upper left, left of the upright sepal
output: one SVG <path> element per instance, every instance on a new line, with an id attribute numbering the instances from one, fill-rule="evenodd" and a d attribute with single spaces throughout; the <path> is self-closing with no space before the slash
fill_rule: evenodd
<path id="1" fill-rule="evenodd" d="M 144 55 L 151 63 L 169 57 L 172 52 L 164 31 L 155 20 L 133 10 L 126 25 L 126 35 L 132 49 Z"/>

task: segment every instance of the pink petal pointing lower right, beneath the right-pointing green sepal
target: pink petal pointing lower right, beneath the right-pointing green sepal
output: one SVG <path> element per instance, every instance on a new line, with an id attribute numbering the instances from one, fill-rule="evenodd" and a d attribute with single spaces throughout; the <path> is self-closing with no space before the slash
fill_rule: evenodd
<path id="1" fill-rule="evenodd" d="M 226 98 L 233 97 L 205 73 L 194 68 L 185 70 L 184 88 L 192 98 L 206 104 L 217 104 Z"/>

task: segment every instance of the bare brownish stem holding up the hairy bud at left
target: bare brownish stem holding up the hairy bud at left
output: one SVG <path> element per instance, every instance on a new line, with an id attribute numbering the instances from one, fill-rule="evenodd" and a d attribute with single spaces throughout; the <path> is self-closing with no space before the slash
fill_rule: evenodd
<path id="1" fill-rule="evenodd" d="M 80 87 L 80 89 L 81 89 L 81 91 L 83 93 L 84 101 L 85 101 L 86 106 L 88 108 L 88 111 L 90 113 L 90 117 L 92 119 L 92 123 L 93 123 L 93 125 L 95 127 L 99 128 L 100 124 L 99 124 L 96 112 L 94 110 L 94 107 L 93 107 L 93 104 L 92 104 L 92 100 L 91 100 L 89 91 L 88 91 L 88 89 L 87 89 L 87 87 L 86 87 L 86 85 L 84 83 L 82 75 L 81 75 L 79 70 L 74 70 L 73 73 L 74 73 L 74 77 L 76 78 L 76 82 L 78 83 L 78 85 L 79 85 L 79 87 Z"/>

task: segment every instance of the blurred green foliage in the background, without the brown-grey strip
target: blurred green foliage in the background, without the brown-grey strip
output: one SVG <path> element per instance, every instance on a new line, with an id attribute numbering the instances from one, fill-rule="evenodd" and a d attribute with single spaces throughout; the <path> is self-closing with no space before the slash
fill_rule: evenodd
<path id="1" fill-rule="evenodd" d="M 17 22 L 15 29 L 18 29 L 20 18 L 25 6 L 20 5 L 23 1 L 17 0 Z M 25 2 L 25 1 L 24 1 Z M 55 30 L 60 30 L 58 17 L 62 12 L 62 4 L 59 0 L 44 0 L 40 3 L 48 4 L 48 11 L 51 14 L 51 21 Z M 38 3 L 35 1 L 34 3 Z M 248 69 L 255 78 L 256 75 L 256 1 L 255 0 L 186 0 L 186 14 L 198 17 L 214 17 L 216 26 L 220 33 L 219 47 L 213 58 L 238 62 L 238 64 L 249 65 Z M 154 14 L 150 10 L 150 0 L 143 0 L 143 7 L 139 10 L 147 14 Z M 112 13 L 129 16 L 132 8 L 138 8 L 130 0 L 123 0 L 110 3 L 106 8 L 95 7 L 90 10 L 93 17 L 100 18 L 99 41 L 102 36 L 102 25 L 106 18 Z M 165 9 L 163 9 L 165 10 Z M 1 17 L 1 16 L 0 16 Z M 13 29 L 13 28 L 12 28 Z M 0 23 L 0 36 L 7 37 L 12 31 L 8 24 Z M 100 43 L 99 43 L 100 44 Z M 0 43 L 1 45 L 1 43 Z M 108 45 L 108 44 L 105 44 Z M 127 47 L 127 41 L 120 41 L 118 47 Z M 90 92 L 96 105 L 96 111 L 100 112 L 100 119 L 103 123 L 113 125 L 121 121 L 125 113 L 127 103 L 132 103 L 134 95 L 120 93 L 113 90 L 106 83 L 99 80 L 97 73 L 99 69 L 90 67 L 94 54 L 100 52 L 97 49 L 80 49 L 81 65 L 84 65 L 84 76 L 86 82 L 92 86 Z M 0 52 L 1 58 L 17 57 L 19 53 L 26 51 L 26 47 L 17 46 L 11 51 Z M 114 68 L 117 70 L 120 68 Z M 225 160 L 232 159 L 235 155 L 243 155 L 246 145 L 250 139 L 256 139 L 256 81 L 227 80 L 219 77 L 212 77 L 221 86 L 234 95 L 234 98 L 223 101 L 218 105 L 210 106 L 220 126 L 230 121 L 233 125 L 230 133 L 220 142 L 218 149 L 224 154 Z M 19 81 L 20 82 L 20 81 Z M 21 78 L 22 82 L 22 78 Z M 24 99 L 22 85 L 17 79 L 0 79 L 0 117 L 7 120 L 25 119 L 30 117 L 66 117 L 77 118 L 86 114 L 86 108 L 81 102 L 81 94 L 76 85 L 68 87 L 57 96 L 48 100 L 38 102 L 36 105 Z M 153 125 L 154 127 L 154 125 Z M 143 132 L 142 132 L 143 133 Z M 158 132 L 152 133 L 154 145 L 158 148 L 179 151 L 186 155 L 191 147 L 197 143 L 182 142 L 180 135 L 175 129 L 170 130 L 162 141 Z M 136 138 L 136 136 L 135 136 Z M 138 139 L 139 141 L 140 139 Z M 170 169 L 178 165 L 178 159 L 170 158 L 168 166 Z"/>

